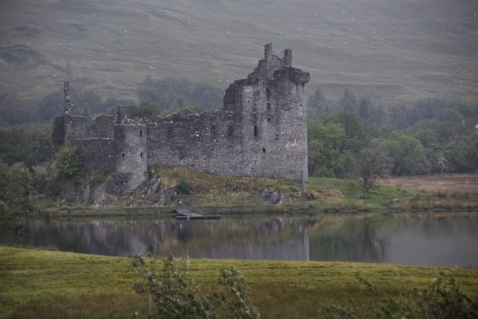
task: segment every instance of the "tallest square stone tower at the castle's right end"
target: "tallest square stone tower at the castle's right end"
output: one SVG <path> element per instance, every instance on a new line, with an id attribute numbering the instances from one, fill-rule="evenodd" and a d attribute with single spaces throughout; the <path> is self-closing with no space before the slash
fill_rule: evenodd
<path id="1" fill-rule="evenodd" d="M 250 157 L 247 175 L 307 180 L 305 84 L 310 75 L 292 68 L 292 51 L 280 59 L 266 44 L 264 59 L 247 79 L 229 85 L 224 109 L 241 114 L 241 144 Z"/>

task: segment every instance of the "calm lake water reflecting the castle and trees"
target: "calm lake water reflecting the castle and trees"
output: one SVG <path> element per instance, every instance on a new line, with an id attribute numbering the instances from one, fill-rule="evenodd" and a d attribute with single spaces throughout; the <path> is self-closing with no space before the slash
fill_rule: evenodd
<path id="1" fill-rule="evenodd" d="M 35 222 L 18 243 L 129 256 L 160 249 L 193 258 L 314 260 L 478 268 L 478 213 L 223 216 L 221 220 Z M 0 234 L 7 243 L 8 234 Z M 23 240 L 23 241 L 22 241 Z"/>

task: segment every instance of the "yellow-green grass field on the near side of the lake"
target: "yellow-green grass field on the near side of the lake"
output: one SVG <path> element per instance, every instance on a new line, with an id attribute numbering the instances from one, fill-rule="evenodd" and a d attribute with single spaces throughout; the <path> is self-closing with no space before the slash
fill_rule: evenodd
<path id="1" fill-rule="evenodd" d="M 180 261 L 179 261 L 180 263 Z M 140 280 L 130 260 L 0 246 L 0 317 L 146 317 L 148 299 L 132 291 Z M 319 304 L 377 298 L 357 283 L 355 272 L 380 289 L 398 294 L 427 286 L 447 268 L 330 262 L 191 261 L 191 275 L 203 289 L 217 280 L 222 266 L 247 279 L 263 318 L 310 318 Z M 447 270 L 449 271 L 449 270 Z M 453 269 L 465 292 L 478 292 L 478 270 Z"/>

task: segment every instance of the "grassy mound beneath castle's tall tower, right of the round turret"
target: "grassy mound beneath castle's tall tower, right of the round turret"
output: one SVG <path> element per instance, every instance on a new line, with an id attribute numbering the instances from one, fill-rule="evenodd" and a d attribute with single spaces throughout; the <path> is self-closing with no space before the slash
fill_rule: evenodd
<path id="1" fill-rule="evenodd" d="M 396 199 L 410 197 L 416 191 L 391 186 L 376 186 L 366 198 L 360 198 L 362 188 L 351 180 L 309 177 L 305 184 L 306 205 L 303 205 L 301 184 L 280 178 L 252 176 L 221 176 L 185 167 L 153 168 L 163 189 L 174 190 L 182 200 L 194 206 L 221 208 L 254 207 L 258 210 L 297 211 L 371 211 L 390 208 Z M 154 179 L 146 182 L 151 185 Z M 261 196 L 267 187 L 283 194 L 280 205 L 271 205 Z"/>

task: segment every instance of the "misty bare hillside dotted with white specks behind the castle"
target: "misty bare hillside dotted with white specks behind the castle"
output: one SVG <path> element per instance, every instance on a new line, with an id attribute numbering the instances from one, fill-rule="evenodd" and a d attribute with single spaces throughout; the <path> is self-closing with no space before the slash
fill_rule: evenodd
<path id="1" fill-rule="evenodd" d="M 135 98 L 149 74 L 226 88 L 272 42 L 327 97 L 478 102 L 474 11 L 476 0 L 2 0 L 0 91 L 58 90 L 68 57 L 73 85 L 105 97 Z"/>

